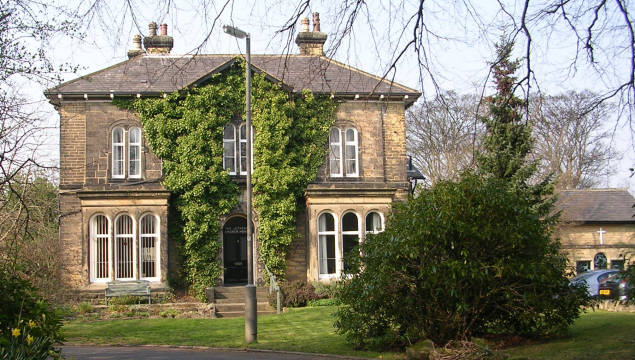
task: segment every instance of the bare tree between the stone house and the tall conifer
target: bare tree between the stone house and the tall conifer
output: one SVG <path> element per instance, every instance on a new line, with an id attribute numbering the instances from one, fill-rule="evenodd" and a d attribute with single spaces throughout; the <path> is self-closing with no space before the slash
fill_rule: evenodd
<path id="1" fill-rule="evenodd" d="M 479 98 L 447 92 L 406 113 L 406 147 L 426 179 L 455 179 L 472 164 L 484 128 L 477 119 Z"/>

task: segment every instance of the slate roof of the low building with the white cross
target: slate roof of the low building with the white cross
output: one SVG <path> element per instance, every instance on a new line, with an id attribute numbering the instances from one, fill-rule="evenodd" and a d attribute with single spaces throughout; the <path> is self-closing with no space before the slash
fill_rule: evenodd
<path id="1" fill-rule="evenodd" d="M 556 209 L 566 222 L 635 223 L 635 199 L 625 189 L 563 190 Z"/>

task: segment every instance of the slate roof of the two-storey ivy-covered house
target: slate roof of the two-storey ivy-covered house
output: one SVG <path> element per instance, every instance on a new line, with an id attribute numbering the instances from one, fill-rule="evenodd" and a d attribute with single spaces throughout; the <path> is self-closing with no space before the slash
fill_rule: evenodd
<path id="1" fill-rule="evenodd" d="M 48 89 L 57 95 L 130 95 L 170 93 L 197 85 L 236 61 L 241 55 L 142 55 L 106 69 L 82 76 Z M 381 80 L 324 56 L 252 55 L 256 71 L 282 82 L 294 92 L 309 89 L 314 93 L 334 95 L 408 95 L 414 102 L 419 92 L 406 86 Z"/>

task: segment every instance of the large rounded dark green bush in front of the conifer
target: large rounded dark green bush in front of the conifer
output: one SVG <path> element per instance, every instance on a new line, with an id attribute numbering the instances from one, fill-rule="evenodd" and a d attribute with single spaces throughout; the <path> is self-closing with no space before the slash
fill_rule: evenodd
<path id="1" fill-rule="evenodd" d="M 505 180 L 467 173 L 397 205 L 338 287 L 338 331 L 359 347 L 564 331 L 588 299 L 569 286 L 534 204 Z"/>

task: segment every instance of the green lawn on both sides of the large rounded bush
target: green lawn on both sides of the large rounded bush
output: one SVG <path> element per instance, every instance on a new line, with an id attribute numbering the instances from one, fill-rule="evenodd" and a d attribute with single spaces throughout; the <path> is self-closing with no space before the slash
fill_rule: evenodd
<path id="1" fill-rule="evenodd" d="M 356 351 L 335 333 L 334 307 L 290 309 L 258 318 L 258 343 L 249 348 L 360 357 L 394 353 Z M 67 323 L 72 343 L 170 344 L 246 347 L 244 319 L 138 319 Z M 635 359 L 635 313 L 590 312 L 572 326 L 569 336 L 502 351 L 510 359 Z"/>

